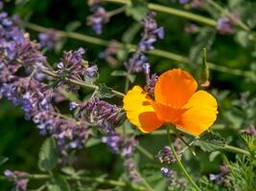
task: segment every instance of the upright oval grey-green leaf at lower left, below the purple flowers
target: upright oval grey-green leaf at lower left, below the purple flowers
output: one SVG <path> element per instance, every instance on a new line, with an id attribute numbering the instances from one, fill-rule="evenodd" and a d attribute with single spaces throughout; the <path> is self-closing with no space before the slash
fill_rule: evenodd
<path id="1" fill-rule="evenodd" d="M 38 167 L 42 171 L 53 170 L 58 163 L 58 149 L 54 138 L 47 138 L 39 152 Z"/>

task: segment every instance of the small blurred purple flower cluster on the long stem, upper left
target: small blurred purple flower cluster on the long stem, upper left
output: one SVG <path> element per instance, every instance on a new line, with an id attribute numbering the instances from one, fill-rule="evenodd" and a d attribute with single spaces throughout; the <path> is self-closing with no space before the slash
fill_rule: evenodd
<path id="1" fill-rule="evenodd" d="M 42 48 L 49 50 L 54 49 L 58 42 L 58 33 L 55 30 L 49 30 L 48 32 L 41 32 L 38 34 L 39 43 Z"/>

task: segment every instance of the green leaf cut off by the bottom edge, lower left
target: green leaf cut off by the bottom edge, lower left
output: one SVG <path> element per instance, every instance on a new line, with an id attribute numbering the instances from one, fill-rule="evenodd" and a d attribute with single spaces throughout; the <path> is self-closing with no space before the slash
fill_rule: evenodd
<path id="1" fill-rule="evenodd" d="M 47 184 L 48 191 L 70 191 L 70 186 L 67 180 L 58 175 L 53 182 Z"/>

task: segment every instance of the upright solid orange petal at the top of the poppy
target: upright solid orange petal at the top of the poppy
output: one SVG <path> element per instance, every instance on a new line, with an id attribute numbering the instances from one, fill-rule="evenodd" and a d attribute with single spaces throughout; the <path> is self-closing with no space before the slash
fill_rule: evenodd
<path id="1" fill-rule="evenodd" d="M 198 88 L 193 76 L 173 69 L 159 76 L 154 88 L 155 101 L 173 108 L 182 107 Z"/>

